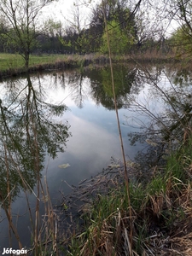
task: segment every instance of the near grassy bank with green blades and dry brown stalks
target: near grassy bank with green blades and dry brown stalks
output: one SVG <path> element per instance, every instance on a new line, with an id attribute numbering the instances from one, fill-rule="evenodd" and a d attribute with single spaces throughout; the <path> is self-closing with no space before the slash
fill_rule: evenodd
<path id="1" fill-rule="evenodd" d="M 192 139 L 148 183 L 131 183 L 131 206 L 119 177 L 83 211 L 65 255 L 131 255 L 131 223 L 132 255 L 192 255 Z"/>

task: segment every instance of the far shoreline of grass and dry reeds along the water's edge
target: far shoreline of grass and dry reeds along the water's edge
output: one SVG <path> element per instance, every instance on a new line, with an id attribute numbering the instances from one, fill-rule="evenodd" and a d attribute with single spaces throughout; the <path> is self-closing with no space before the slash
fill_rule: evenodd
<path id="1" fill-rule="evenodd" d="M 13 58 L 17 58 L 18 55 L 15 55 Z M 47 62 L 44 62 L 44 57 L 49 59 Z M 21 58 L 21 57 L 20 57 Z M 106 65 L 109 64 L 109 58 L 107 55 L 32 55 L 32 60 L 30 61 L 30 66 L 28 70 L 25 67 L 22 67 L 21 62 L 15 67 L 4 67 L 0 65 L 0 79 L 7 79 L 9 77 L 17 77 L 26 73 L 35 73 L 35 72 L 44 72 L 49 70 L 65 70 L 67 68 L 74 67 L 88 67 L 89 65 Z M 36 60 L 37 58 L 37 60 Z M 41 60 L 42 61 L 39 61 Z M 14 59 L 13 59 L 14 60 Z M 13 61 L 12 60 L 12 61 Z M 22 61 L 20 59 L 20 61 Z M 14 61 L 13 61 L 14 62 Z M 176 64 L 181 62 L 173 56 L 169 55 L 125 55 L 125 56 L 113 56 L 113 64 L 116 63 L 172 63 Z M 1 64 L 1 54 L 0 54 L 0 64 Z M 11 66 L 11 65 L 10 65 Z M 14 66 L 14 64 L 12 65 Z"/>

